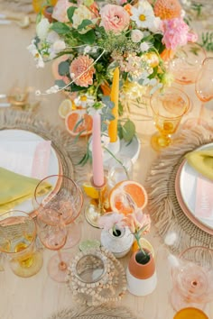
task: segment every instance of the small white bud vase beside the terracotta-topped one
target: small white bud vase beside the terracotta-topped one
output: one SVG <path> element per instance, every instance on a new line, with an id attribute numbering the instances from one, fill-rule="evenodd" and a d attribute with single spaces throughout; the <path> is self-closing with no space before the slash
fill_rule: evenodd
<path id="1" fill-rule="evenodd" d="M 100 242 L 116 258 L 122 258 L 130 251 L 134 242 L 134 235 L 128 227 L 116 227 L 115 230 L 102 230 Z"/>

